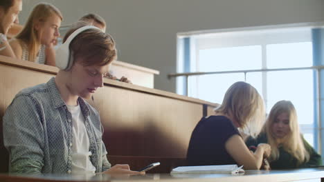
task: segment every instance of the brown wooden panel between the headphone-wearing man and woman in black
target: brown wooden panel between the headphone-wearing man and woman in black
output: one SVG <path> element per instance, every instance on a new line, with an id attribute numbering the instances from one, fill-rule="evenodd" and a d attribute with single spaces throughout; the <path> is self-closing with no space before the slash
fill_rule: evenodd
<path id="1" fill-rule="evenodd" d="M 201 104 L 121 88 L 101 88 L 94 100 L 111 155 L 186 157 L 202 114 Z"/>

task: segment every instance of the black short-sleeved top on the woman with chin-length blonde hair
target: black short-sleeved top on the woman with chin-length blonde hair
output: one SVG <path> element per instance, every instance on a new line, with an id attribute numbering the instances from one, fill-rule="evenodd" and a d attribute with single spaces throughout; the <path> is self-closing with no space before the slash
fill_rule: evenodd
<path id="1" fill-rule="evenodd" d="M 226 141 L 234 134 L 239 132 L 227 117 L 203 117 L 191 135 L 187 152 L 188 165 L 236 164 L 225 149 Z"/>

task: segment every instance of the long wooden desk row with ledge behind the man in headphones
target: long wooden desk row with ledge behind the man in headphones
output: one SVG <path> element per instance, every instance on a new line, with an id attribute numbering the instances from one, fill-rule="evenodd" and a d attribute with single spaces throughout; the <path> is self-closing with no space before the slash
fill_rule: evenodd
<path id="1" fill-rule="evenodd" d="M 23 88 L 46 83 L 58 69 L 0 56 L 0 118 L 15 94 Z M 183 165 L 191 132 L 215 103 L 184 97 L 171 92 L 145 88 L 110 79 L 88 101 L 100 113 L 105 129 L 103 141 L 108 159 L 129 163 L 139 170 L 152 162 L 160 168 L 150 172 L 170 172 Z M 8 154 L 3 147 L 0 122 L 0 172 L 8 170 Z"/>

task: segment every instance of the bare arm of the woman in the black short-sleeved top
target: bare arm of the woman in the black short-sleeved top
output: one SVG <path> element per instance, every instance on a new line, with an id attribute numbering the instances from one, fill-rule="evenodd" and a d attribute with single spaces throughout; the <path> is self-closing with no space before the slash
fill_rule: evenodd
<path id="1" fill-rule="evenodd" d="M 271 147 L 266 143 L 260 143 L 255 152 L 251 152 L 238 134 L 231 136 L 226 141 L 225 148 L 238 165 L 244 165 L 245 170 L 259 170 L 263 156 L 267 157 L 271 153 Z"/>

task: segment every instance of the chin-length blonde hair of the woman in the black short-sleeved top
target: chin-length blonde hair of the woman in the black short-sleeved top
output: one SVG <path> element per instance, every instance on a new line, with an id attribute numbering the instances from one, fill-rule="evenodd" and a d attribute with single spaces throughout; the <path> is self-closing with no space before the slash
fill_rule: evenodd
<path id="1" fill-rule="evenodd" d="M 215 112 L 231 115 L 240 124 L 240 129 L 253 137 L 260 133 L 265 119 L 262 97 L 244 81 L 238 81 L 228 88 L 222 105 Z"/>

